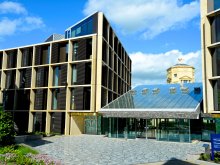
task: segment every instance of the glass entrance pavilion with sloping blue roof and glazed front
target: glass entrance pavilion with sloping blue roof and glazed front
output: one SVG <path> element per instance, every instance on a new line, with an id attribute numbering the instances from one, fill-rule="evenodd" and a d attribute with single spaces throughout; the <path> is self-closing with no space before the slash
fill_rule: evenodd
<path id="1" fill-rule="evenodd" d="M 102 133 L 191 142 L 200 136 L 201 102 L 201 83 L 137 86 L 100 110 Z"/>

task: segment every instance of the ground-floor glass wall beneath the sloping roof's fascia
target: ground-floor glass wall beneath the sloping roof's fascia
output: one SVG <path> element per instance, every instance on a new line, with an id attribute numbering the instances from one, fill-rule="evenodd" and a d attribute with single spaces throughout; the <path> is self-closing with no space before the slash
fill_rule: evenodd
<path id="1" fill-rule="evenodd" d="M 159 141 L 192 142 L 210 140 L 218 123 L 202 119 L 102 118 L 102 134 L 110 138 L 146 138 Z"/>

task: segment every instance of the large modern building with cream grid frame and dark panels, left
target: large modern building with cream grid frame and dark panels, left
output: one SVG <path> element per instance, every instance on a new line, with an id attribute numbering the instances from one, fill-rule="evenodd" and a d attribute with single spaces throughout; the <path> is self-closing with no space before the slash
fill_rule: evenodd
<path id="1" fill-rule="evenodd" d="M 21 133 L 98 134 L 101 107 L 131 87 L 131 60 L 101 12 L 65 35 L 0 50 L 0 69 L 0 101 Z"/>

